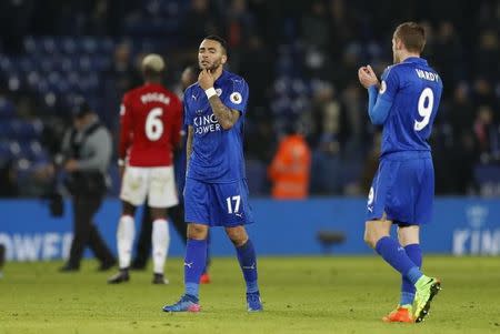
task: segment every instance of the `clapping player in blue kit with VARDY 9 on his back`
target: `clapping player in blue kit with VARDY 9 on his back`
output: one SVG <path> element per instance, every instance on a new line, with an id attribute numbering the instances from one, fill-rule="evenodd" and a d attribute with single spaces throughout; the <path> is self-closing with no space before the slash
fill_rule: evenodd
<path id="1" fill-rule="evenodd" d="M 400 24 L 392 38 L 393 65 L 381 83 L 370 65 L 358 71 L 368 89 L 368 112 L 383 125 L 379 170 L 368 196 L 364 241 L 402 276 L 398 307 L 386 322 L 421 322 L 440 281 L 422 274 L 420 225 L 431 220 L 434 171 L 427 140 L 439 107 L 442 81 L 420 58 L 426 44 L 421 26 Z M 398 225 L 398 240 L 390 236 Z"/>

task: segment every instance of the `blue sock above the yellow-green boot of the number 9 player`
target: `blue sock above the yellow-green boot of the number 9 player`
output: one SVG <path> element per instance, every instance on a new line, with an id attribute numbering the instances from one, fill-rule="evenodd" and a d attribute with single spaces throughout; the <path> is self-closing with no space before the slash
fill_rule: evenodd
<path id="1" fill-rule="evenodd" d="M 422 276 L 419 267 L 408 257 L 404 249 L 392 237 L 381 237 L 377 242 L 376 251 L 411 284 L 414 284 Z"/>

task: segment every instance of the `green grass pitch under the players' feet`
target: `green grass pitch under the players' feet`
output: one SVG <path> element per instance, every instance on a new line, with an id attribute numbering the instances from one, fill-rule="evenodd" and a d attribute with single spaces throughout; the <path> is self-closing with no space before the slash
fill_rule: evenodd
<path id="1" fill-rule="evenodd" d="M 426 257 L 443 290 L 421 324 L 380 321 L 398 302 L 400 279 L 376 256 L 261 257 L 264 312 L 248 314 L 236 259 L 213 259 L 201 287 L 202 312 L 167 314 L 182 293 L 182 260 L 169 259 L 170 285 L 151 270 L 108 285 L 112 273 L 87 261 L 79 273 L 61 262 L 8 263 L 0 280 L 0 334 L 13 333 L 500 333 L 500 259 Z"/>

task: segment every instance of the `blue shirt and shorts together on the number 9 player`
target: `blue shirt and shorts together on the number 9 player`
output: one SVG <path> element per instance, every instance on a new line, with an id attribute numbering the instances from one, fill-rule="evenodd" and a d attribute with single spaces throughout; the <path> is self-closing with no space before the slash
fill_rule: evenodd
<path id="1" fill-rule="evenodd" d="M 382 74 L 378 99 L 391 107 L 383 122 L 379 169 L 368 195 L 368 220 L 386 217 L 400 225 L 430 222 L 434 171 L 427 141 L 441 92 L 441 78 L 421 58 L 410 57 Z"/>

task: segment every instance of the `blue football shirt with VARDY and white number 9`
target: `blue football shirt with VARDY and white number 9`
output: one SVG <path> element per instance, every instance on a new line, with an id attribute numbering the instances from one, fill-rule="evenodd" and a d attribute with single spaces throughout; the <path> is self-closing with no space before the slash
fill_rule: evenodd
<path id="1" fill-rule="evenodd" d="M 378 99 L 391 103 L 383 122 L 381 156 L 430 151 L 427 142 L 441 100 L 442 81 L 422 58 L 411 57 L 382 74 Z"/>

